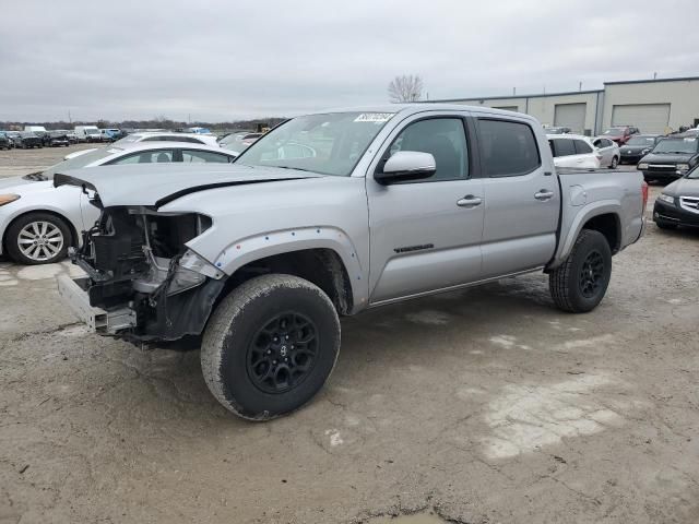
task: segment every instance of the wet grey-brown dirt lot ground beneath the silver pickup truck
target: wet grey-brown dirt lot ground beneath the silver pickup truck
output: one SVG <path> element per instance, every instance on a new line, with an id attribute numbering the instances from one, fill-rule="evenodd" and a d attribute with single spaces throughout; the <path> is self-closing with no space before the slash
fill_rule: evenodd
<path id="1" fill-rule="evenodd" d="M 266 424 L 198 352 L 87 334 L 70 264 L 0 261 L 0 523 L 699 522 L 698 255 L 650 224 L 588 314 L 531 275 L 344 319 L 325 389 Z"/>

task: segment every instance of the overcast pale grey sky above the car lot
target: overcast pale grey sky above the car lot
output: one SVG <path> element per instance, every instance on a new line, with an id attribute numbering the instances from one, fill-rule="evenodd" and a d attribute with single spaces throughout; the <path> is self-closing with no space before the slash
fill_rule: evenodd
<path id="1" fill-rule="evenodd" d="M 0 15 L 0 120 L 224 121 L 699 75 L 699 1 L 24 0 Z M 699 93 L 698 93 L 699 96 Z"/>

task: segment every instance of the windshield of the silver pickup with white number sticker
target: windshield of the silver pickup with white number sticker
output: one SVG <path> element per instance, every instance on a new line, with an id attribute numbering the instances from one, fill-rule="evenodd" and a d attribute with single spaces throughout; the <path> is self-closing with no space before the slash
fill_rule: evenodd
<path id="1" fill-rule="evenodd" d="M 294 118 L 260 138 L 238 163 L 347 177 L 393 112 L 329 112 Z"/>

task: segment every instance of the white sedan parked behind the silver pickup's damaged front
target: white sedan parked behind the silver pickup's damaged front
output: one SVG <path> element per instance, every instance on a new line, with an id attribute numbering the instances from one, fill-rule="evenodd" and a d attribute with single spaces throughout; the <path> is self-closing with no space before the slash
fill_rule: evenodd
<path id="1" fill-rule="evenodd" d="M 0 179 L 0 254 L 22 264 L 47 264 L 80 242 L 99 210 L 79 188 L 54 188 L 57 171 L 82 167 L 151 163 L 230 163 L 236 155 L 218 146 L 182 142 L 110 145 L 69 155 L 45 171 Z M 138 191 L 138 188 L 134 188 Z"/>

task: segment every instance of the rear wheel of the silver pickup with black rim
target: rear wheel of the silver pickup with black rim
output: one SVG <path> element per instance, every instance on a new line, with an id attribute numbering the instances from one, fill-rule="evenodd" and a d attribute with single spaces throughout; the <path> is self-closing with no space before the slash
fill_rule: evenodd
<path id="1" fill-rule="evenodd" d="M 602 301 L 611 277 L 607 239 L 600 231 L 583 229 L 566 262 L 548 275 L 548 288 L 559 309 L 584 313 Z"/>

